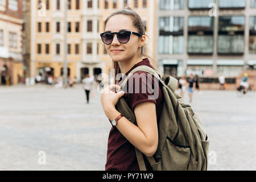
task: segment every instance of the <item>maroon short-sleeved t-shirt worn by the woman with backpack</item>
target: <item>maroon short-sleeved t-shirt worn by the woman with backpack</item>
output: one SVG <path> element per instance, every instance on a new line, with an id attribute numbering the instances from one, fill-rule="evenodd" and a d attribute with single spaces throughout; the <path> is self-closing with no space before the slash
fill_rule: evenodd
<path id="1" fill-rule="evenodd" d="M 135 64 L 125 75 L 127 76 L 134 68 L 140 65 L 147 65 L 152 67 L 148 59 L 143 59 L 141 62 Z M 156 117 L 159 119 L 160 113 L 163 108 L 163 94 L 162 89 L 158 85 L 160 82 L 154 81 L 154 76 L 148 79 L 148 73 L 137 71 L 127 81 L 127 88 L 125 88 L 125 99 L 127 105 L 134 111 L 136 105 L 150 101 L 156 104 Z M 133 79 L 133 80 L 131 80 Z M 139 84 L 138 81 L 139 80 Z M 148 84 L 152 86 L 148 86 Z M 131 82 L 132 84 L 129 84 Z M 122 80 L 118 85 L 122 84 Z M 146 90 L 144 88 L 147 88 Z M 139 89 L 139 90 L 138 90 Z M 153 99 L 152 99 L 153 98 Z M 151 166 L 146 160 L 144 154 L 144 161 L 146 168 L 151 170 Z M 112 126 L 108 139 L 108 152 L 105 169 L 108 170 L 122 170 L 122 171 L 139 171 L 135 148 L 119 130 Z"/>

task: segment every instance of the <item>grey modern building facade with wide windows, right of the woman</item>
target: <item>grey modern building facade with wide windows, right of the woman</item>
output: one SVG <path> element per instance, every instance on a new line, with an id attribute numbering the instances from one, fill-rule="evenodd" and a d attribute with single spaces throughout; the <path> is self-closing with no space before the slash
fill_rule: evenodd
<path id="1" fill-rule="evenodd" d="M 159 0 L 157 12 L 155 55 L 166 75 L 256 69 L 255 0 Z"/>

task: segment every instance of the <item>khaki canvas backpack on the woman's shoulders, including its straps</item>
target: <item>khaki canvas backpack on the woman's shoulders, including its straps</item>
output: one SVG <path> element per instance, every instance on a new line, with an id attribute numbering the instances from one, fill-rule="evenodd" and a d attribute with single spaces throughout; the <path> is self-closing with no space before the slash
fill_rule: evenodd
<path id="1" fill-rule="evenodd" d="M 175 91 L 177 80 L 174 77 L 164 79 L 154 69 L 142 65 L 124 78 L 118 92 L 124 88 L 127 80 L 134 72 L 150 73 L 159 80 L 163 92 L 163 110 L 158 123 L 158 148 L 154 156 L 147 157 L 154 171 L 173 170 L 207 170 L 209 140 L 201 122 L 190 105 L 185 104 L 183 98 Z M 124 90 L 125 91 L 125 90 Z M 116 109 L 135 125 L 136 118 L 133 111 L 120 98 Z M 146 171 L 142 152 L 135 148 L 139 169 Z"/>

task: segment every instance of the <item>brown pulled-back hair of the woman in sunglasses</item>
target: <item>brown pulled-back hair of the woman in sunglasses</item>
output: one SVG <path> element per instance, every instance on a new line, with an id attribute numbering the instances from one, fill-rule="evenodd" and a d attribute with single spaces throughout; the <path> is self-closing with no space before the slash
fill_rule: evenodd
<path id="1" fill-rule="evenodd" d="M 142 20 L 141 20 L 141 16 L 139 16 L 138 13 L 136 13 L 129 6 L 125 6 L 125 7 L 123 7 L 123 9 L 115 11 L 114 13 L 109 15 L 108 18 L 105 20 L 105 27 L 106 27 L 106 23 L 108 23 L 109 19 L 112 16 L 119 15 L 119 14 L 130 16 L 130 18 L 133 20 L 134 27 L 138 29 L 138 33 L 146 35 L 145 34 L 145 28 L 144 28 Z M 141 48 L 141 55 L 142 55 L 142 57 L 147 57 L 149 60 L 153 60 L 152 57 L 150 57 L 146 53 L 144 53 L 145 51 L 146 51 L 145 46 L 143 46 Z M 152 64 L 152 61 L 150 61 L 150 63 Z M 112 65 L 113 65 L 113 68 L 115 70 L 114 76 L 116 77 L 118 73 L 121 73 L 119 65 L 118 65 L 118 62 L 112 61 Z M 158 68 L 156 68 L 155 64 L 153 64 L 153 65 L 154 65 L 154 69 L 157 69 L 158 71 L 160 71 Z M 115 84 L 117 84 L 117 82 L 118 82 L 118 80 L 115 80 Z"/>

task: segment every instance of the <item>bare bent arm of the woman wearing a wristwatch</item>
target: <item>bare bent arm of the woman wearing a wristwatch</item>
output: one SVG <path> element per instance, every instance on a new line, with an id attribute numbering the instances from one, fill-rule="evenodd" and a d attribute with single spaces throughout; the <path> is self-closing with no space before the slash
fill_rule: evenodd
<path id="1" fill-rule="evenodd" d="M 134 108 L 137 125 L 122 117 L 117 123 L 117 129 L 138 150 L 146 156 L 152 156 L 158 147 L 158 125 L 154 102 L 142 102 Z M 117 110 L 109 112 L 109 119 L 115 119 L 119 114 Z"/>

